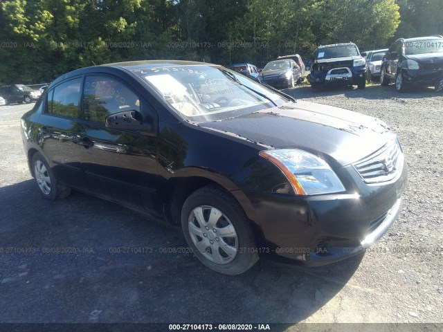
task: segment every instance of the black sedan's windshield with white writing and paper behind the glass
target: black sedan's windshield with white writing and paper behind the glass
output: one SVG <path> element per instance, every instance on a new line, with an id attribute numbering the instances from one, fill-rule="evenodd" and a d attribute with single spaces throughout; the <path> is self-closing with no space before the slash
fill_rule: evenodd
<path id="1" fill-rule="evenodd" d="M 262 84 L 219 66 L 159 66 L 134 73 L 192 122 L 221 120 L 289 102 Z"/>

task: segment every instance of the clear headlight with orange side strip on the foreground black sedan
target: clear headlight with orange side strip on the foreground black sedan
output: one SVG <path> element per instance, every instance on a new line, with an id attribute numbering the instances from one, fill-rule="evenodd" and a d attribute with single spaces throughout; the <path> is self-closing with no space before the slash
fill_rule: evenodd
<path id="1" fill-rule="evenodd" d="M 345 187 L 325 160 L 299 149 L 260 151 L 287 176 L 299 195 L 344 192 Z"/>

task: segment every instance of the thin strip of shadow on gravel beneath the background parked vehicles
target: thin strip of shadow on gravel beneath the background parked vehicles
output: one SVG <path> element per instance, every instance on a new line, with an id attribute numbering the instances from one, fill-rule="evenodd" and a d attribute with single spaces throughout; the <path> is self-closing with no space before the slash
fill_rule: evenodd
<path id="1" fill-rule="evenodd" d="M 330 86 L 325 89 L 321 89 L 318 92 L 311 91 L 310 86 L 300 86 L 294 89 L 285 89 L 282 92 L 291 95 L 296 99 L 305 98 L 321 98 L 329 95 L 345 95 L 347 98 L 366 98 L 369 100 L 384 100 L 384 99 L 408 99 L 408 98 L 435 98 L 435 96 L 443 96 L 443 93 L 435 92 L 433 88 L 426 87 L 413 87 L 405 93 L 398 93 L 395 90 L 395 85 L 381 86 L 374 84 L 366 86 L 365 89 L 357 89 L 346 86 Z"/>

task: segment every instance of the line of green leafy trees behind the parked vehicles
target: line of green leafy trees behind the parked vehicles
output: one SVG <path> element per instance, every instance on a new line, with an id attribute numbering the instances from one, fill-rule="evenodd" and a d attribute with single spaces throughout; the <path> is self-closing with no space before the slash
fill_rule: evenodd
<path id="1" fill-rule="evenodd" d="M 0 84 L 137 59 L 263 66 L 319 44 L 443 33 L 443 0 L 2 0 Z"/>

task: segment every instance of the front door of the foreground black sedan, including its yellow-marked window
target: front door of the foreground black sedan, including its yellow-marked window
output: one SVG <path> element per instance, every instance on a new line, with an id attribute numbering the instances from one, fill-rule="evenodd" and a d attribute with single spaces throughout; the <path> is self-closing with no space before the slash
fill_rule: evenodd
<path id="1" fill-rule="evenodd" d="M 161 215 L 163 206 L 156 195 L 156 136 L 105 127 L 107 116 L 130 110 L 143 114 L 146 104 L 123 80 L 107 75 L 85 77 L 83 111 L 87 121 L 79 131 L 83 145 L 80 160 L 91 192 Z"/>

